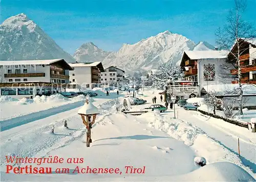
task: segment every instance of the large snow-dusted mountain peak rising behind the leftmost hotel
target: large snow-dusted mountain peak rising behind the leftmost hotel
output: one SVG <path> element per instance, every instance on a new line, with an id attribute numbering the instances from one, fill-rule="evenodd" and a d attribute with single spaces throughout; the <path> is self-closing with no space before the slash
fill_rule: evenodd
<path id="1" fill-rule="evenodd" d="M 75 59 L 60 48 L 24 13 L 11 16 L 0 25 L 0 60 Z"/>

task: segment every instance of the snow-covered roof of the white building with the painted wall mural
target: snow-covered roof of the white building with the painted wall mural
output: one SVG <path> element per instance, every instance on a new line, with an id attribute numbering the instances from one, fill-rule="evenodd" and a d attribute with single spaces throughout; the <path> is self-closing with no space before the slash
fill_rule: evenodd
<path id="1" fill-rule="evenodd" d="M 226 59 L 228 54 L 229 50 L 185 50 L 180 66 L 185 66 L 185 61 L 187 60 Z"/>

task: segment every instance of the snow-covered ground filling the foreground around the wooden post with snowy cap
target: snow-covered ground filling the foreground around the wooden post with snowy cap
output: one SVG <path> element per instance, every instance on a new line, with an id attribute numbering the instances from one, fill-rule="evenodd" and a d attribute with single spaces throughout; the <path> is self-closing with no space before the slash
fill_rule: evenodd
<path id="1" fill-rule="evenodd" d="M 136 95 L 150 103 L 132 106 L 132 110 L 150 106 L 153 96 L 163 105 L 159 102 L 159 92 L 145 90 L 144 96 Z M 86 129 L 77 115 L 80 107 L 2 132 L 2 181 L 255 181 L 256 144 L 253 135 L 247 135 L 239 128 L 226 131 L 225 127 L 229 126 L 212 124 L 213 121 L 206 121 L 198 112 L 179 107 L 176 107 L 178 119 L 174 119 L 174 111 L 170 109 L 165 113 L 150 111 L 140 116 L 118 113 L 117 95 L 103 96 L 93 98 L 100 115 L 92 128 L 90 148 L 84 143 Z M 123 95 L 118 99 L 122 103 Z M 68 129 L 63 127 L 65 120 Z M 54 134 L 51 133 L 53 124 Z M 241 159 L 237 153 L 237 135 L 243 139 L 240 143 Z M 6 174 L 5 155 L 16 155 L 17 146 L 22 157 L 58 155 L 64 159 L 83 158 L 84 162 L 61 164 L 61 167 L 70 169 L 68 174 Z M 207 165 L 198 169 L 194 164 L 197 156 L 204 157 Z M 36 164 L 32 166 L 38 167 Z M 120 171 L 118 174 L 82 174 L 77 173 L 77 166 L 119 168 Z M 125 173 L 125 166 L 142 168 L 145 173 Z M 39 167 L 55 170 L 60 165 L 41 164 Z"/>

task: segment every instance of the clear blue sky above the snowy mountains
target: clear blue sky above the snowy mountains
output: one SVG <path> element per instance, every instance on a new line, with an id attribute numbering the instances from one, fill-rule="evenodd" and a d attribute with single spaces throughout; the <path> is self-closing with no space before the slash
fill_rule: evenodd
<path id="1" fill-rule="evenodd" d="M 166 30 L 215 44 L 214 32 L 226 21 L 233 0 L 0 0 L 1 23 L 25 13 L 58 45 L 73 55 L 92 41 L 118 50 Z M 248 0 L 244 19 L 256 25 L 256 1 Z"/>

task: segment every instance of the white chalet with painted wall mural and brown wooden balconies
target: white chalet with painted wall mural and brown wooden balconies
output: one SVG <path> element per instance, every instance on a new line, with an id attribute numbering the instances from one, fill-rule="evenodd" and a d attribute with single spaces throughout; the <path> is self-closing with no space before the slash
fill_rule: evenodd
<path id="1" fill-rule="evenodd" d="M 195 82 L 199 96 L 206 85 L 219 85 L 222 82 L 221 65 L 227 61 L 227 50 L 187 50 L 184 51 L 180 66 L 184 70 L 183 81 Z"/>

